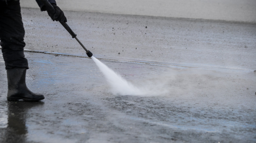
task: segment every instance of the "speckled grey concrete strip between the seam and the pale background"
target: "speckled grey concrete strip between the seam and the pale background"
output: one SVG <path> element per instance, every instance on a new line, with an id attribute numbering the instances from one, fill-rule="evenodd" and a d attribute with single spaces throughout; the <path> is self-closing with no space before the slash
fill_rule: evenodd
<path id="1" fill-rule="evenodd" d="M 26 49 L 85 54 L 47 12 L 23 8 L 22 13 Z M 77 38 L 98 57 L 256 70 L 255 24 L 80 11 L 65 14 Z"/>

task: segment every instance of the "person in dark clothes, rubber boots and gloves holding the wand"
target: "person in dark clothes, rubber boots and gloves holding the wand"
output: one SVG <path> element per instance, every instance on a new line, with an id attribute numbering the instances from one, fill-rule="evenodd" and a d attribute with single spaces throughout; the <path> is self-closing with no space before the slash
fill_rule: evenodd
<path id="1" fill-rule="evenodd" d="M 67 22 L 63 11 L 55 0 L 48 0 L 55 12 L 52 13 L 40 0 L 36 0 L 41 11 L 47 11 L 53 21 Z M 0 0 L 0 45 L 2 47 L 5 68 L 8 79 L 8 101 L 40 101 L 41 94 L 30 91 L 26 85 L 26 70 L 29 69 L 28 60 L 24 55 L 25 30 L 21 17 L 19 0 Z"/>

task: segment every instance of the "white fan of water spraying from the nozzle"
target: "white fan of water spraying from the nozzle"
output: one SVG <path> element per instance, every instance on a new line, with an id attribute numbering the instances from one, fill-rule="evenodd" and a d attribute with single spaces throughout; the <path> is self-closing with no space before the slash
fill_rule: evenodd
<path id="1" fill-rule="evenodd" d="M 115 71 L 111 70 L 105 64 L 100 62 L 94 56 L 91 57 L 93 61 L 96 63 L 100 71 L 105 75 L 107 81 L 112 86 L 112 92 L 117 95 L 145 95 L 145 91 L 135 87 L 125 79 L 123 79 L 120 75 L 118 75 Z"/>

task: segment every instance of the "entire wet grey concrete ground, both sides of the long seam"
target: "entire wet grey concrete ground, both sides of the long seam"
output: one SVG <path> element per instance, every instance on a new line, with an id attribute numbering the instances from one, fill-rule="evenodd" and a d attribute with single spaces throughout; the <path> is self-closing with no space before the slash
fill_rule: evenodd
<path id="1" fill-rule="evenodd" d="M 86 54 L 59 23 L 22 12 L 26 49 L 47 51 L 25 52 L 27 85 L 45 99 L 7 102 L 0 56 L 0 142 L 256 142 L 255 24 L 67 11 L 103 63 L 169 90 L 120 96 L 92 59 L 68 56 Z"/>

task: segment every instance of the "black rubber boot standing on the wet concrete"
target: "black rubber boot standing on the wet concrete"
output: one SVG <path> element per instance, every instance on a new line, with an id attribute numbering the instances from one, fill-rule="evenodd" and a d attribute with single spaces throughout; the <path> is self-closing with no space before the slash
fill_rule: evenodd
<path id="1" fill-rule="evenodd" d="M 8 101 L 39 101 L 44 99 L 43 95 L 31 92 L 26 86 L 26 70 L 26 68 L 7 69 Z"/>

